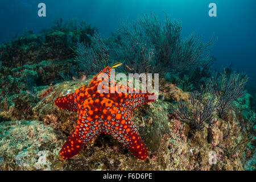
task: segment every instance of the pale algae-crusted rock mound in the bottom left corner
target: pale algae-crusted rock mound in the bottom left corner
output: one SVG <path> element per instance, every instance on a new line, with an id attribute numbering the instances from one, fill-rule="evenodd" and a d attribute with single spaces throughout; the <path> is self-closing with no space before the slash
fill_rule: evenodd
<path id="1" fill-rule="evenodd" d="M 0 170 L 49 170 L 57 159 L 61 136 L 40 121 L 0 123 Z"/>

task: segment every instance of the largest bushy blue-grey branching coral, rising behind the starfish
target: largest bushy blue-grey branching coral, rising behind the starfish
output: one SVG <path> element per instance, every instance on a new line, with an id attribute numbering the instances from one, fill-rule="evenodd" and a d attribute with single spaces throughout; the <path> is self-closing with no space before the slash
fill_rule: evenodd
<path id="1" fill-rule="evenodd" d="M 113 57 L 131 67 L 141 64 L 147 68 L 145 71 L 161 75 L 210 65 L 214 60 L 209 52 L 216 42 L 214 36 L 203 43 L 201 36 L 195 32 L 183 38 L 181 29 L 178 20 L 166 15 L 162 21 L 154 13 L 139 15 L 133 23 L 122 21 L 118 29 L 121 39 L 112 48 Z"/>

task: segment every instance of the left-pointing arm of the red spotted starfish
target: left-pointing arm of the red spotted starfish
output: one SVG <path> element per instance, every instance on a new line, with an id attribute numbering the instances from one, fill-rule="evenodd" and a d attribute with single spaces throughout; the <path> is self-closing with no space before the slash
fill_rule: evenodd
<path id="1" fill-rule="evenodd" d="M 77 111 L 78 105 L 75 102 L 75 93 L 67 94 L 66 96 L 57 97 L 54 104 L 60 109 Z"/>

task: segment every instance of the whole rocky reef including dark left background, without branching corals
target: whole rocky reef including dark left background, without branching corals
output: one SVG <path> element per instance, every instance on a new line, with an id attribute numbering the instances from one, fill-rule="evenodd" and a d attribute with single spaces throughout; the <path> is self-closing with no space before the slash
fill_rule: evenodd
<path id="1" fill-rule="evenodd" d="M 60 159 L 77 113 L 60 110 L 53 102 L 89 85 L 96 75 L 85 72 L 74 51 L 77 38 L 90 49 L 94 30 L 72 20 L 63 24 L 60 19 L 40 35 L 26 32 L 0 46 L 0 170 L 256 170 L 255 95 L 245 90 L 223 117 L 213 111 L 216 123 L 201 130 L 193 129 L 171 109 L 177 110 L 180 100 L 191 101 L 192 89 L 210 77 L 204 69 L 160 78 L 159 98 L 133 111 L 148 159 L 134 158 L 107 134 L 99 135 L 79 155 Z M 117 42 L 118 36 L 112 39 Z M 80 55 L 84 56 L 82 49 Z M 212 93 L 209 97 L 217 102 Z"/>

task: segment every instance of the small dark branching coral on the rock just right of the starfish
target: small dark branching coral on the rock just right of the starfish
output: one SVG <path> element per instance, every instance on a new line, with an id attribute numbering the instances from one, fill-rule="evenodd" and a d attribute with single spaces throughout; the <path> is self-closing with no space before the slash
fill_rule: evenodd
<path id="1" fill-rule="evenodd" d="M 212 125 L 217 122 L 213 117 L 215 105 L 214 98 L 204 98 L 204 94 L 199 92 L 192 92 L 189 94 L 189 102 L 183 102 L 181 99 L 177 103 L 177 110 L 171 106 L 181 119 L 181 121 L 188 123 L 192 129 L 201 130 L 205 125 Z"/>

